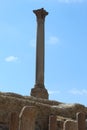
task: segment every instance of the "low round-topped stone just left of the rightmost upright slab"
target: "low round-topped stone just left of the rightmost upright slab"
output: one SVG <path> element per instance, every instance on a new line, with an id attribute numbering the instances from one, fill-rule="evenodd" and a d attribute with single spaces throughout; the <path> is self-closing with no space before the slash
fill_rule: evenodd
<path id="1" fill-rule="evenodd" d="M 78 130 L 77 128 L 77 122 L 66 120 L 64 122 L 63 130 Z"/>

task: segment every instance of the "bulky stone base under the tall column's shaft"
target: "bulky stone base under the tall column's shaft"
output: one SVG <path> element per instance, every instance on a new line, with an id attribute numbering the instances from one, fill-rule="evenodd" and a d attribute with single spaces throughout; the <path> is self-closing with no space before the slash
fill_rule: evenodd
<path id="1" fill-rule="evenodd" d="M 31 96 L 48 99 L 49 95 L 44 85 L 35 85 L 35 87 L 31 89 Z"/>

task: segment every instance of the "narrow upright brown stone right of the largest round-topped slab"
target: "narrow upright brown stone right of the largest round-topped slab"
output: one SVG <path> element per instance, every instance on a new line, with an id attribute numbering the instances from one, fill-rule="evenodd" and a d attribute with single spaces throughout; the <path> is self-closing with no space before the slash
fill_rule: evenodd
<path id="1" fill-rule="evenodd" d="M 56 130 L 57 128 L 57 116 L 49 116 L 49 130 Z"/>

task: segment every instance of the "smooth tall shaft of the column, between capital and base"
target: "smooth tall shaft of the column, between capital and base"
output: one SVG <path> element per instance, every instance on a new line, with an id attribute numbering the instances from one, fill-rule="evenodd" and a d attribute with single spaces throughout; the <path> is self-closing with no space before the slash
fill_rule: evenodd
<path id="1" fill-rule="evenodd" d="M 36 84 L 44 86 L 44 19 L 37 19 Z"/>

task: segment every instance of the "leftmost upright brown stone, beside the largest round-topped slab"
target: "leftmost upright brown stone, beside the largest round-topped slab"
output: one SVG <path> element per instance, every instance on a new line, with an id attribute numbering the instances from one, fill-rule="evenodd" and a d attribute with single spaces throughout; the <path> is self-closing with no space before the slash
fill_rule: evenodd
<path id="1" fill-rule="evenodd" d="M 9 129 L 10 130 L 18 130 L 19 129 L 19 115 L 16 112 L 11 113 Z"/>

